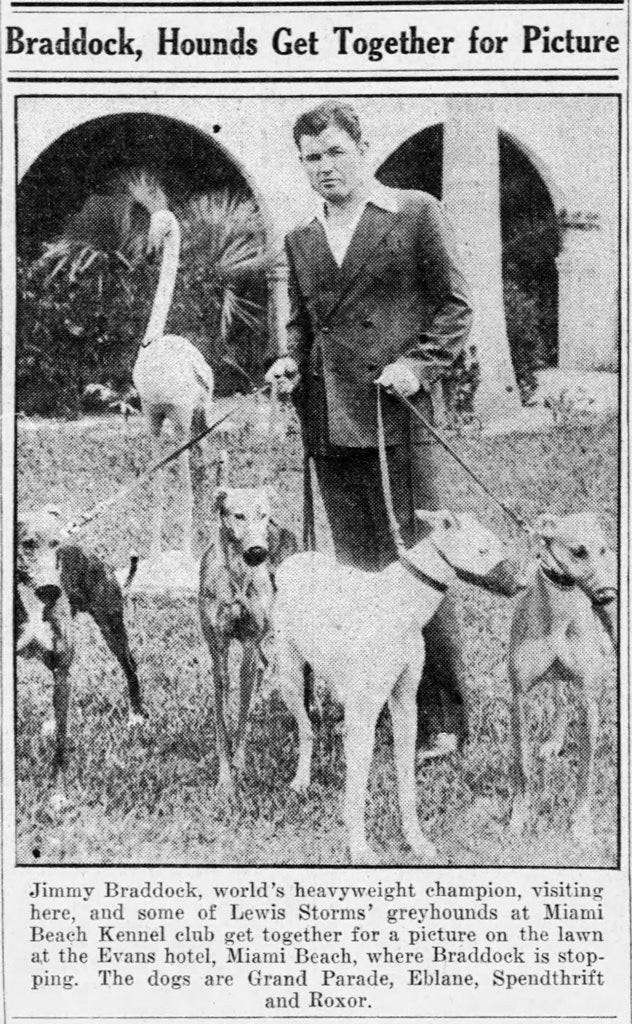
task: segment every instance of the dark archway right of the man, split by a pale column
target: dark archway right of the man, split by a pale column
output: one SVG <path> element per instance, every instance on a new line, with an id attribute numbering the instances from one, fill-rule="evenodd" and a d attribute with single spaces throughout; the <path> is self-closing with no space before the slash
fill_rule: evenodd
<path id="1" fill-rule="evenodd" d="M 507 336 L 522 396 L 536 370 L 557 365 L 557 266 L 560 234 L 547 185 L 524 150 L 499 132 L 502 270 Z M 377 177 L 397 188 L 443 190 L 444 127 L 406 140 Z"/>

